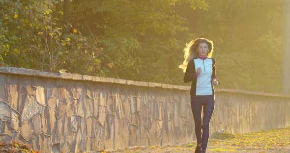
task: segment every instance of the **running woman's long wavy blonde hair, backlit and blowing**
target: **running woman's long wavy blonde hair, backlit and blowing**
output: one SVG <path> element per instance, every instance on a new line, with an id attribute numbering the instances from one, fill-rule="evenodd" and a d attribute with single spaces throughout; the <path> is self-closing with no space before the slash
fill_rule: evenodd
<path id="1" fill-rule="evenodd" d="M 213 42 L 211 40 L 205 39 L 205 38 L 197 38 L 195 40 L 192 40 L 189 44 L 186 44 L 186 47 L 184 48 L 184 61 L 183 64 L 179 65 L 178 67 L 183 70 L 185 73 L 188 62 L 191 59 L 194 59 L 198 56 L 197 49 L 201 43 L 205 43 L 208 46 L 208 52 L 207 57 L 211 58 L 213 54 Z"/>

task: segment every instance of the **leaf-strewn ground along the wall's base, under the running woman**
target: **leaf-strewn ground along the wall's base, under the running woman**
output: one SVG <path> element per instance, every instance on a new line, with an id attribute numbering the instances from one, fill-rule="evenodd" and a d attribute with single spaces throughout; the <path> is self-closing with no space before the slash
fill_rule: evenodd
<path id="1" fill-rule="evenodd" d="M 196 142 L 175 146 L 142 146 L 103 153 L 194 153 Z M 102 153 L 102 152 L 100 152 Z M 218 133 L 206 153 L 290 153 L 290 127 L 244 134 Z"/>

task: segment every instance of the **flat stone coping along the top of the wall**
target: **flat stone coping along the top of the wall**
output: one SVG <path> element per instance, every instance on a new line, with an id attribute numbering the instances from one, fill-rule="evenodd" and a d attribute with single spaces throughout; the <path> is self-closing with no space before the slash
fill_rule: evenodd
<path id="1" fill-rule="evenodd" d="M 92 82 L 105 82 L 105 83 L 118 83 L 118 84 L 124 84 L 124 85 L 135 85 L 135 86 L 143 86 L 143 87 L 160 87 L 160 88 L 164 88 L 164 89 L 190 90 L 190 86 L 172 85 L 172 84 L 164 84 L 164 83 L 156 83 L 156 82 L 133 81 L 133 80 L 125 80 L 125 79 L 119 79 L 119 78 L 110 78 L 110 77 L 94 77 L 94 76 L 69 74 L 69 73 L 50 73 L 50 72 L 42 72 L 39 70 L 15 68 L 15 67 L 0 67 L 0 74 L 23 75 L 23 76 L 32 76 L 32 77 L 60 78 L 60 79 L 71 79 L 71 80 L 92 81 Z M 235 89 L 217 88 L 217 89 L 215 89 L 215 91 L 216 92 L 235 93 L 235 94 L 290 98 L 290 95 L 261 93 L 261 92 L 235 90 Z"/>

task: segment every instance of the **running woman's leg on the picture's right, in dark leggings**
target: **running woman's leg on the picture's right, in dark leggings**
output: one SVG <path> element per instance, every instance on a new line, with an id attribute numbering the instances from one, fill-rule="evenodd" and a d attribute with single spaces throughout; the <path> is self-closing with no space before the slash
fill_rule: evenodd
<path id="1" fill-rule="evenodd" d="M 202 136 L 202 152 L 205 153 L 209 138 L 209 121 L 211 119 L 215 98 L 214 95 L 207 95 L 206 101 L 203 103 L 203 136 Z"/>

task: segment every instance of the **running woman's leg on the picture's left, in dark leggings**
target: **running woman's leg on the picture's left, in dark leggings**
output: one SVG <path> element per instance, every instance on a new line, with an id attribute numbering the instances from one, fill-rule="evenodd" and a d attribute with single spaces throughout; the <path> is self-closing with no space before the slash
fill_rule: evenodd
<path id="1" fill-rule="evenodd" d="M 191 103 L 191 110 L 194 118 L 195 123 L 195 134 L 197 143 L 202 143 L 202 96 L 191 96 L 190 103 Z"/>

